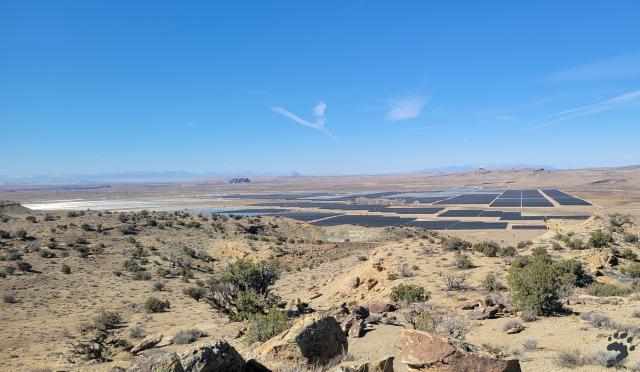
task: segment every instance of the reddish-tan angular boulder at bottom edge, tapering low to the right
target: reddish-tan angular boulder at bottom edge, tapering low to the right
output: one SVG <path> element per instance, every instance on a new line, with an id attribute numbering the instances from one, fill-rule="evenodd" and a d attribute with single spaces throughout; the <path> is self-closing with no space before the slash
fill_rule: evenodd
<path id="1" fill-rule="evenodd" d="M 516 359 L 497 359 L 465 352 L 444 337 L 416 330 L 405 330 L 401 338 L 401 362 L 414 371 L 441 372 L 520 372 Z"/>

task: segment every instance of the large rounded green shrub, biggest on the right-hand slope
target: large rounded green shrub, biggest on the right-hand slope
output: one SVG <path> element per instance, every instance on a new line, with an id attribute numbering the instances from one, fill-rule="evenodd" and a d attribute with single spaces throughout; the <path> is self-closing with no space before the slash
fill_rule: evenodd
<path id="1" fill-rule="evenodd" d="M 517 258 L 509 268 L 507 283 L 514 304 L 521 310 L 535 314 L 558 310 L 561 282 L 558 269 L 548 256 Z"/>

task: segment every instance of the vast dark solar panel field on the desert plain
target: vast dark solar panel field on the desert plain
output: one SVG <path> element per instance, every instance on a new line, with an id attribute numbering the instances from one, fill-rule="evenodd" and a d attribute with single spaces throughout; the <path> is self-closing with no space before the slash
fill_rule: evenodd
<path id="1" fill-rule="evenodd" d="M 299 194 L 251 194 L 230 195 L 229 198 L 271 199 L 256 204 L 263 209 L 236 209 L 223 214 L 276 214 L 300 221 L 312 222 L 317 226 L 358 225 L 366 227 L 386 227 L 411 225 L 430 230 L 485 230 L 507 229 L 542 230 L 546 225 L 517 225 L 516 221 L 542 221 L 551 219 L 585 220 L 589 215 L 547 215 L 546 213 L 522 215 L 512 208 L 560 208 L 560 206 L 588 206 L 589 202 L 576 198 L 558 189 L 483 189 L 459 187 L 449 190 L 412 192 L 371 192 L 371 193 L 299 193 Z M 357 198 L 384 199 L 384 204 L 356 204 Z M 280 200 L 280 201 L 275 201 Z M 389 202 L 391 200 L 391 202 Z M 411 203 L 411 205 L 407 204 Z M 381 204 L 383 204 L 381 202 Z M 431 206 L 429 206 L 431 205 Z M 455 206 L 484 206 L 492 209 L 451 209 Z M 493 208 L 508 208 L 496 210 Z M 295 208 L 296 210 L 291 210 Z M 472 207 L 473 208 L 473 207 Z M 476 207 L 478 208 L 478 207 Z M 482 207 L 480 207 L 482 208 Z M 315 211 L 313 209 L 316 209 Z M 317 211 L 317 209 L 327 210 Z M 343 214 L 359 211 L 364 214 Z M 373 214 L 367 214 L 372 212 Z M 393 215 L 424 216 L 420 220 Z M 435 220 L 427 220 L 437 215 Z M 452 218 L 452 219 L 448 219 Z M 478 220 L 483 219 L 483 220 Z"/>

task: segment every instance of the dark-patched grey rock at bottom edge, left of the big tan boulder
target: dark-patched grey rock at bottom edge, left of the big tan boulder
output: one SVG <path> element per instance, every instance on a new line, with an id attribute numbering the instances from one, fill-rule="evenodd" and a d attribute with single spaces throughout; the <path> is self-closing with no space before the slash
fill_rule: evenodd
<path id="1" fill-rule="evenodd" d="M 141 357 L 130 372 L 212 372 L 254 371 L 228 342 L 219 340 L 178 355 L 156 354 Z"/>

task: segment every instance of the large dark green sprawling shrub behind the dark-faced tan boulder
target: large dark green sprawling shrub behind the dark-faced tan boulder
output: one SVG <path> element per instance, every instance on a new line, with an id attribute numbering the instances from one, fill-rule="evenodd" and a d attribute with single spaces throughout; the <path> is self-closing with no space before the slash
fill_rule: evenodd
<path id="1" fill-rule="evenodd" d="M 275 262 L 238 260 L 208 282 L 206 300 L 215 310 L 234 320 L 244 320 L 251 314 L 265 313 L 279 298 L 271 286 L 279 277 Z"/>

